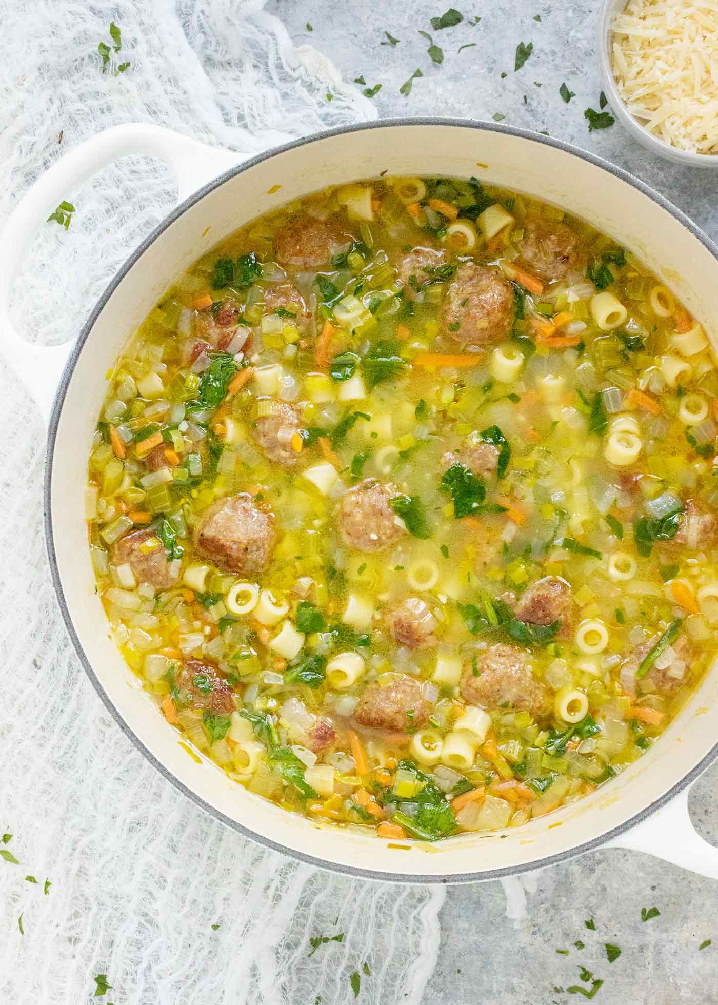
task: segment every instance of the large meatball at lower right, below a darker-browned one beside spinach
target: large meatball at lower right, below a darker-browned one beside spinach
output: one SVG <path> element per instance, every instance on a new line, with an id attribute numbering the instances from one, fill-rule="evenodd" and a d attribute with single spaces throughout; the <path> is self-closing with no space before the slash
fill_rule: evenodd
<path id="1" fill-rule="evenodd" d="M 464 666 L 459 686 L 464 700 L 484 709 L 508 702 L 517 712 L 539 717 L 549 708 L 548 688 L 533 676 L 527 655 L 500 642 Z"/>

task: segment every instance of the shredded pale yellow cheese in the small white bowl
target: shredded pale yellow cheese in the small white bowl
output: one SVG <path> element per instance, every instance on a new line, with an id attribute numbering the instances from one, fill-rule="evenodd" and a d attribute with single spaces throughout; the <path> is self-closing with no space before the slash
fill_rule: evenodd
<path id="1" fill-rule="evenodd" d="M 672 147 L 718 154 L 718 0 L 629 0 L 611 27 L 627 111 Z"/>

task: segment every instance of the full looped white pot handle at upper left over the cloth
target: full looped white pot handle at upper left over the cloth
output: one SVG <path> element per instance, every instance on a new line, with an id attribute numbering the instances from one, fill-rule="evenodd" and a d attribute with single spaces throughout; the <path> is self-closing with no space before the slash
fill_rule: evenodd
<path id="1" fill-rule="evenodd" d="M 208 147 L 159 126 L 114 126 L 70 150 L 21 198 L 0 231 L 0 353 L 37 402 L 45 422 L 72 340 L 62 346 L 43 347 L 31 345 L 19 335 L 10 320 L 13 279 L 36 227 L 87 178 L 132 154 L 157 157 L 170 165 L 178 185 L 178 202 L 240 159 L 230 151 Z"/>

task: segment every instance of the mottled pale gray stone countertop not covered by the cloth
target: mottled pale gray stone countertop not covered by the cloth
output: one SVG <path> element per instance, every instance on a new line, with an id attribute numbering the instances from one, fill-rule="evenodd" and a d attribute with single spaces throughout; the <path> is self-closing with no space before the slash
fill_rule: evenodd
<path id="1" fill-rule="evenodd" d="M 455 0 L 465 20 L 435 31 L 430 18 L 445 2 L 384 0 L 337 4 L 327 0 L 270 0 L 297 42 L 329 56 L 344 79 L 381 83 L 375 98 L 382 118 L 456 116 L 545 130 L 626 168 L 653 185 L 718 239 L 718 170 L 686 169 L 644 151 L 616 123 L 588 133 L 583 110 L 599 108 L 595 53 L 597 8 L 587 0 L 570 6 L 545 0 L 511 5 Z M 535 20 L 535 15 L 540 21 Z M 469 18 L 481 20 L 471 25 Z M 306 28 L 307 22 L 312 30 Z M 435 65 L 427 55 L 428 31 L 444 51 Z M 387 41 L 385 31 L 399 39 Z M 458 49 L 475 42 L 475 46 Z M 533 43 L 514 72 L 519 42 Z M 400 86 L 415 69 L 411 94 Z M 502 78 L 501 72 L 507 75 Z M 566 105 L 565 81 L 575 97 Z M 537 86 L 540 84 L 540 86 Z M 694 786 L 690 807 L 703 837 L 718 845 L 718 765 Z M 554 991 L 577 983 L 586 967 L 604 985 L 596 1005 L 718 1005 L 718 881 L 638 852 L 595 851 L 535 875 L 526 918 L 506 917 L 498 882 L 450 887 L 442 912 L 439 960 L 424 1005 L 577 1005 L 577 993 Z M 659 917 L 641 921 L 641 909 Z M 584 921 L 593 918 L 595 931 Z M 713 944 L 700 951 L 707 939 Z M 576 949 L 574 943 L 584 943 Z M 622 955 L 607 959 L 605 944 Z M 569 955 L 556 953 L 568 950 Z M 388 1003 L 399 1005 L 399 1003 Z"/>

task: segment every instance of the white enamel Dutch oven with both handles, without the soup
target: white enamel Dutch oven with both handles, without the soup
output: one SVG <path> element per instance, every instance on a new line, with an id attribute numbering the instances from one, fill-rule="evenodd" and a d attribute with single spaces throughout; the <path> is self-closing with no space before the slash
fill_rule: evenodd
<path id="1" fill-rule="evenodd" d="M 33 228 L 102 165 L 138 153 L 169 162 L 184 201 L 123 266 L 71 348 L 27 345 L 13 333 L 7 305 Z M 236 166 L 236 155 L 156 127 L 108 130 L 36 183 L 8 219 L 0 242 L 2 350 L 18 377 L 32 374 L 31 391 L 49 420 L 47 547 L 77 653 L 121 728 L 178 788 L 243 834 L 315 865 L 381 879 L 463 882 L 621 846 L 718 878 L 718 849 L 696 834 L 687 812 L 691 782 L 718 754 L 716 672 L 651 751 L 590 796 L 518 829 L 464 834 L 427 851 L 317 826 L 246 792 L 212 763 L 188 756 L 107 636 L 82 519 L 81 446 L 94 429 L 104 374 L 172 280 L 221 238 L 297 196 L 385 173 L 475 175 L 561 206 L 635 251 L 708 332 L 718 333 L 718 248 L 646 185 L 533 134 L 467 122 L 385 122 L 326 133 Z"/>

